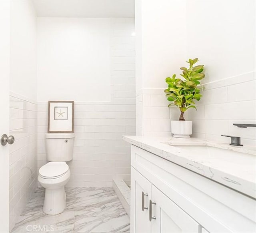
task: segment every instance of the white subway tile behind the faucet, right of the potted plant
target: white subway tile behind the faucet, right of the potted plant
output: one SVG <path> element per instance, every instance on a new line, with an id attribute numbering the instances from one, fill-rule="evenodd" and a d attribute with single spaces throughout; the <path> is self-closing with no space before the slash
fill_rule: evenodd
<path id="1" fill-rule="evenodd" d="M 255 128 L 240 129 L 233 125 L 256 123 L 255 72 L 204 84 L 203 87 L 198 111 L 189 112 L 189 118 L 193 120 L 193 135 L 225 143 L 230 143 L 230 138 L 221 135 L 234 135 L 241 137 L 243 144 L 255 146 Z"/>

